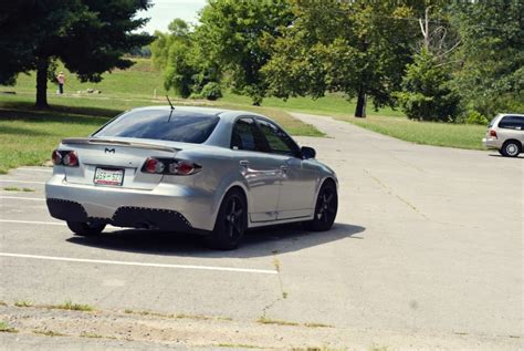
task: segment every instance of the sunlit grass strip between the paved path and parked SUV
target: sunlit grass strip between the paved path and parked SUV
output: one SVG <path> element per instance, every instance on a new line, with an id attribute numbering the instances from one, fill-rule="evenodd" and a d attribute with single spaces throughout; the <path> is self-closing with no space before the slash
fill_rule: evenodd
<path id="1" fill-rule="evenodd" d="M 360 127 L 416 144 L 484 149 L 485 126 L 416 122 L 407 118 L 368 116 L 367 118 L 337 117 Z"/>

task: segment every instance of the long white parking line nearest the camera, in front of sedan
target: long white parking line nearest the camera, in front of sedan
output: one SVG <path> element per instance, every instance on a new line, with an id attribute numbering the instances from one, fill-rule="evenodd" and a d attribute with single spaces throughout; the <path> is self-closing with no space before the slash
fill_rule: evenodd
<path id="1" fill-rule="evenodd" d="M 9 254 L 9 252 L 0 252 L 0 256 L 14 257 L 14 258 L 43 259 L 43 260 L 53 260 L 53 261 L 82 262 L 82 264 L 103 264 L 103 265 L 139 266 L 139 267 L 156 267 L 156 268 L 218 270 L 218 271 L 234 271 L 234 272 L 260 273 L 260 275 L 277 275 L 279 273 L 276 270 L 218 267 L 218 266 L 147 264 L 147 262 L 133 262 L 133 261 L 113 261 L 113 260 L 104 260 L 104 259 L 84 259 L 84 258 L 54 257 L 54 256 L 40 256 L 40 255 Z"/>

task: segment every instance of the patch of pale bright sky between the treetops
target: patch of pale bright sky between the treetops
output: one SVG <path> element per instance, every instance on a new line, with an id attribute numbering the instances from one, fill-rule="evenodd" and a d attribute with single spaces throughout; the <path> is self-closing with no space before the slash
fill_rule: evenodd
<path id="1" fill-rule="evenodd" d="M 150 18 L 143 29 L 153 34 L 155 30 L 167 31 L 167 25 L 176 18 L 187 22 L 197 22 L 198 11 L 203 8 L 206 0 L 153 0 L 153 8 L 139 13 L 139 17 Z"/>

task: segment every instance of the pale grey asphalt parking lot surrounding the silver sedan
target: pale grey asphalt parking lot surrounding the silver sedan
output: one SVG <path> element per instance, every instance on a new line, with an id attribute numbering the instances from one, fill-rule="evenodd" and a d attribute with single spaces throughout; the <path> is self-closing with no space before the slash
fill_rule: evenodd
<path id="1" fill-rule="evenodd" d="M 22 167 L 0 176 L 0 300 L 328 326 L 274 323 L 293 334 L 272 341 L 283 348 L 311 345 L 315 332 L 316 345 L 357 349 L 522 347 L 523 158 L 295 115 L 328 135 L 298 142 L 337 172 L 333 230 L 259 229 L 234 251 L 111 227 L 75 237 L 48 214 L 51 168 Z"/>

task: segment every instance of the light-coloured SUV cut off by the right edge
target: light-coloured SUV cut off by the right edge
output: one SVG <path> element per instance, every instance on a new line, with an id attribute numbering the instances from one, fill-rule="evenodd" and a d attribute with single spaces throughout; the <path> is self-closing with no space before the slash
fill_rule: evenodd
<path id="1" fill-rule="evenodd" d="M 524 144 L 524 114 L 497 114 L 490 122 L 482 143 L 488 148 L 499 149 L 503 156 L 518 156 Z"/>

